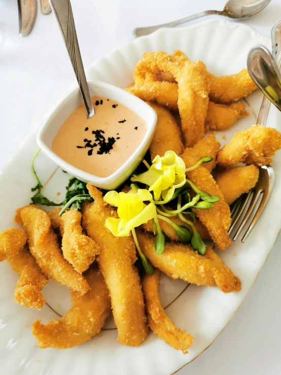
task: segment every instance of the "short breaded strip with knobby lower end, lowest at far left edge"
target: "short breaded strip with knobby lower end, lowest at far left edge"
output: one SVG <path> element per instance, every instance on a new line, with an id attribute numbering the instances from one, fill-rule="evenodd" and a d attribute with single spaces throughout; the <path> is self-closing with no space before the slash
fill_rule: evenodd
<path id="1" fill-rule="evenodd" d="M 8 258 L 14 271 L 20 274 L 15 288 L 14 299 L 25 308 L 42 309 L 45 298 L 41 290 L 48 283 L 48 279 L 24 246 L 16 255 Z"/>

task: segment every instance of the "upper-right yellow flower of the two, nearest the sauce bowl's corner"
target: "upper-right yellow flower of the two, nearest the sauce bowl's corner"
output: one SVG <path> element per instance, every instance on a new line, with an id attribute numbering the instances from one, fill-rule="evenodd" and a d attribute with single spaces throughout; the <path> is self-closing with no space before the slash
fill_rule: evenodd
<path id="1" fill-rule="evenodd" d="M 133 175 L 131 181 L 148 185 L 149 191 L 154 192 L 155 200 L 159 200 L 160 196 L 170 200 L 174 190 L 185 184 L 185 172 L 183 159 L 173 151 L 167 151 L 162 157 L 157 155 L 148 171 Z"/>

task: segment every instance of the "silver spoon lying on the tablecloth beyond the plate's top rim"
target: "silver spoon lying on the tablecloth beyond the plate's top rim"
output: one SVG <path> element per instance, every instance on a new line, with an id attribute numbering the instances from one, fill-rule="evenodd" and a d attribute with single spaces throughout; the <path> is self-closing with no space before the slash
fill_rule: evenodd
<path id="1" fill-rule="evenodd" d="M 254 14 L 262 11 L 270 2 L 271 0 L 228 0 L 223 11 L 205 11 L 194 14 L 193 16 L 182 18 L 178 21 L 163 23 L 157 26 L 137 27 L 133 30 L 133 35 L 135 38 L 143 37 L 144 35 L 151 34 L 159 28 L 179 26 L 183 23 L 209 15 L 225 16 L 238 21 L 254 16 Z"/>

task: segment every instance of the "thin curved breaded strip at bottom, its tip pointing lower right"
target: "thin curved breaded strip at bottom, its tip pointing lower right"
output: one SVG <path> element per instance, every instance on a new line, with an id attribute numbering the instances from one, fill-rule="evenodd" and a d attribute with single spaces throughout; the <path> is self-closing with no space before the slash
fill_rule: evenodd
<path id="1" fill-rule="evenodd" d="M 165 314 L 159 295 L 159 279 L 160 271 L 154 269 L 153 275 L 146 274 L 142 280 L 148 325 L 166 344 L 186 354 L 193 343 L 193 337 L 177 328 Z"/>

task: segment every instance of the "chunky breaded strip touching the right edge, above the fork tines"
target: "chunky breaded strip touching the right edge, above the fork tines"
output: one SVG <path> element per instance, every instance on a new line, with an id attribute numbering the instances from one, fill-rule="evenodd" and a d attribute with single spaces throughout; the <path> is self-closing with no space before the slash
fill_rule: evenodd
<path id="1" fill-rule="evenodd" d="M 218 164 L 225 167 L 237 163 L 267 165 L 281 148 L 281 133 L 270 127 L 252 125 L 234 134 L 232 140 L 218 153 Z"/>

